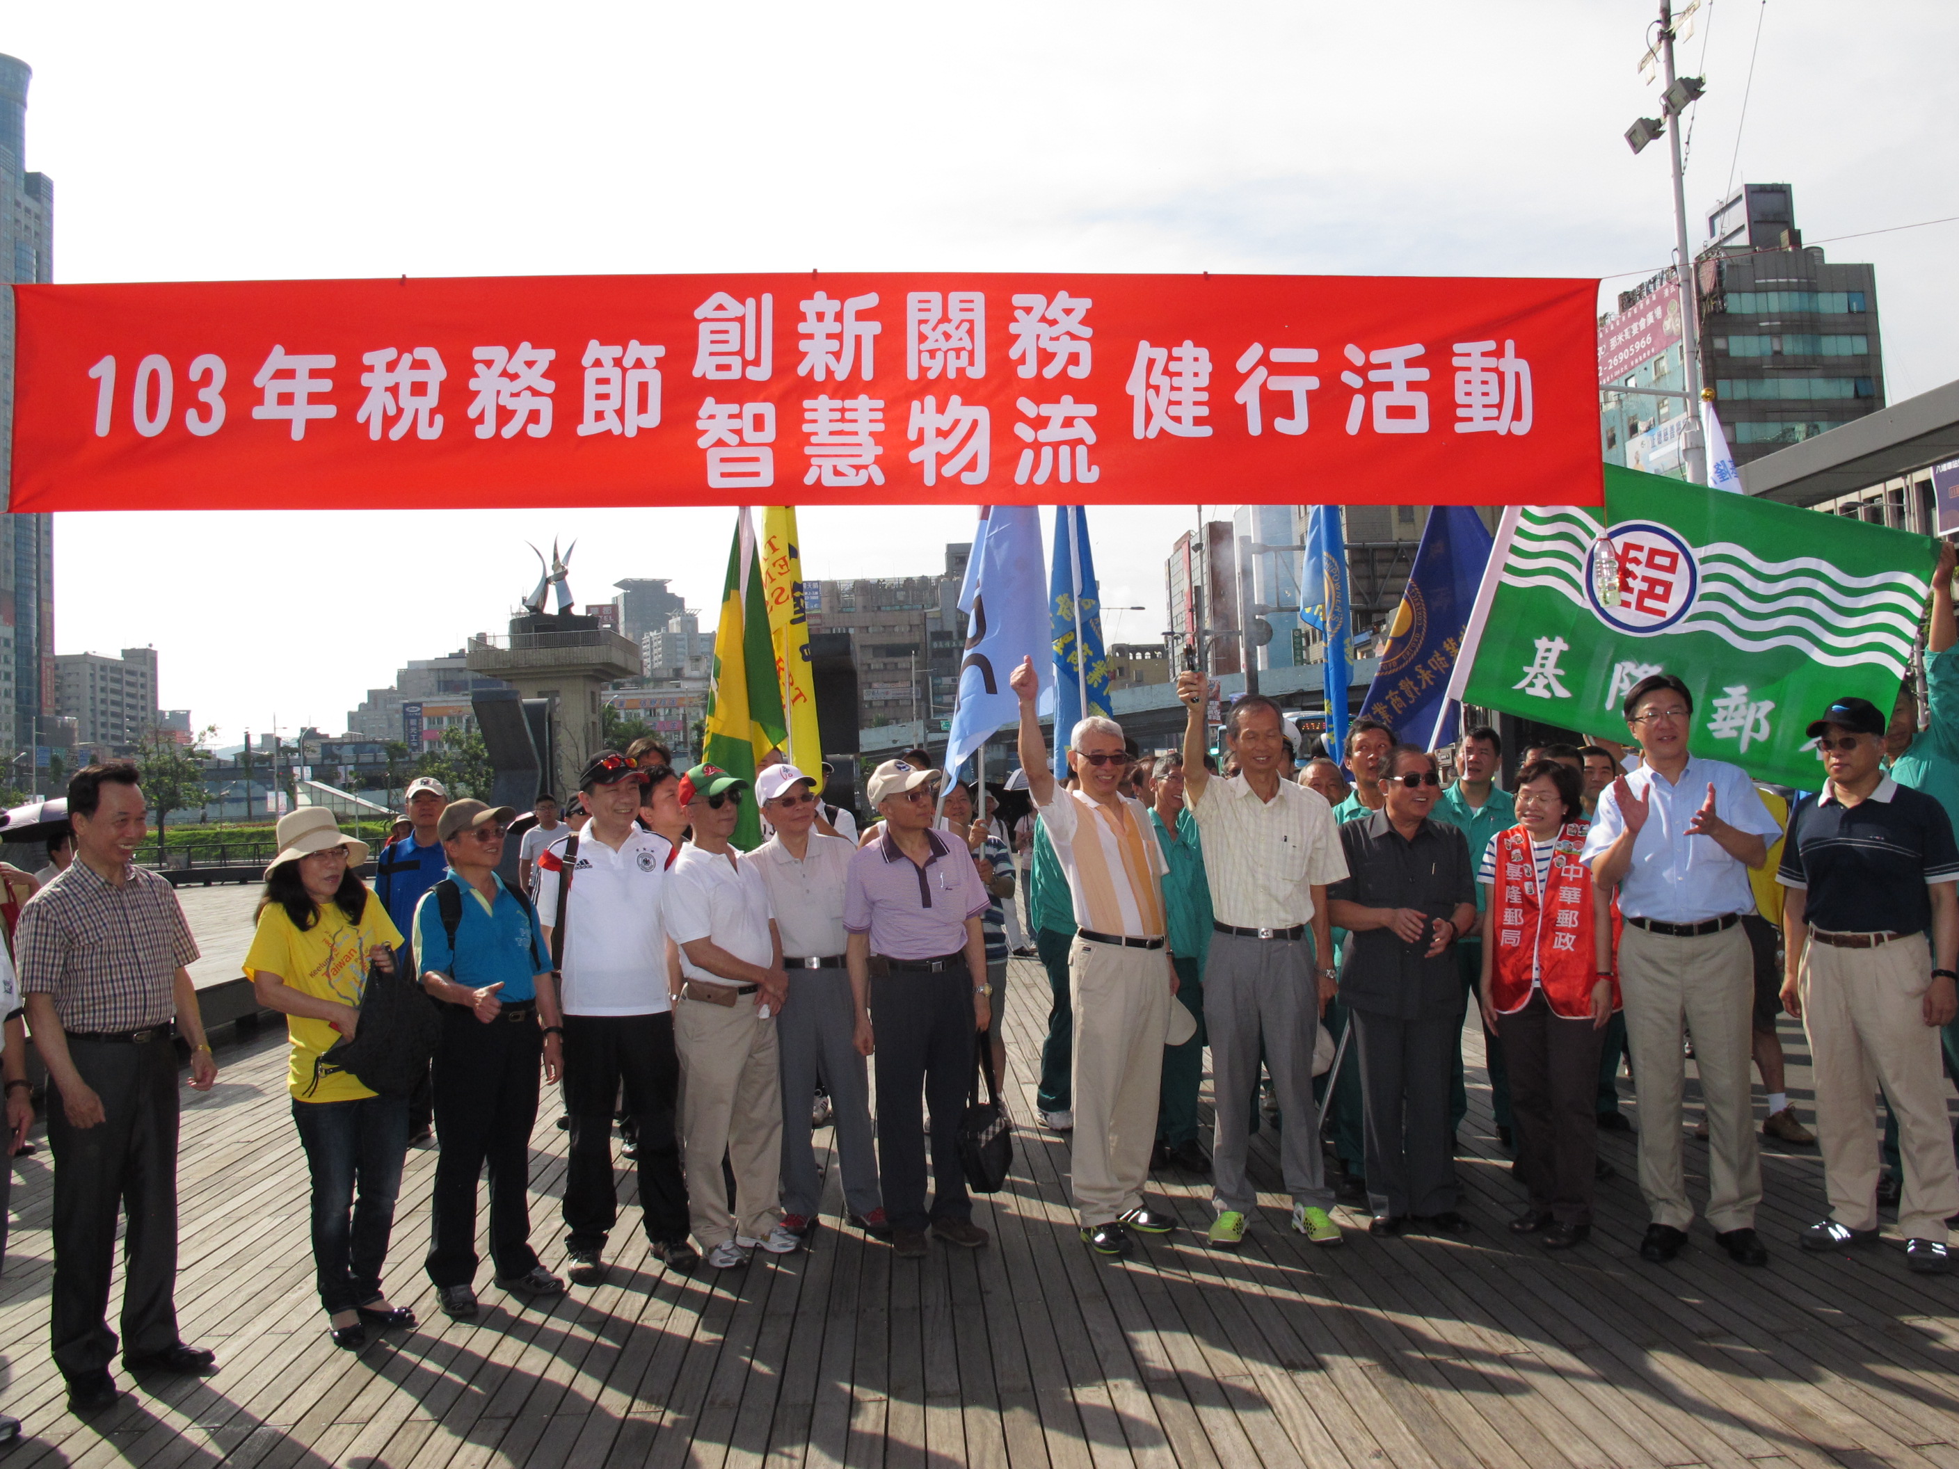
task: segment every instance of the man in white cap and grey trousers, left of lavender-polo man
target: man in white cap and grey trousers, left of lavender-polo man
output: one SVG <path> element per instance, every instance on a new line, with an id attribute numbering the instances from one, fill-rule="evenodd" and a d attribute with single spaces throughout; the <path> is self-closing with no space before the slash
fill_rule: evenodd
<path id="1" fill-rule="evenodd" d="M 742 856 L 741 866 L 762 876 L 789 975 L 789 993 L 776 1019 L 776 1048 L 782 1052 L 782 1226 L 807 1238 L 817 1224 L 823 1179 L 809 1138 L 809 1099 L 821 1079 L 831 1097 L 850 1222 L 885 1238 L 889 1228 L 878 1195 L 864 1069 L 870 1015 L 844 960 L 850 944 L 844 883 L 856 844 L 813 830 L 815 780 L 795 766 L 770 766 L 754 778 L 754 793 L 762 819 L 776 834 Z"/>

